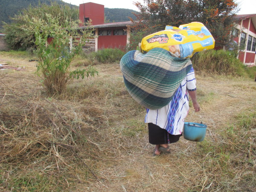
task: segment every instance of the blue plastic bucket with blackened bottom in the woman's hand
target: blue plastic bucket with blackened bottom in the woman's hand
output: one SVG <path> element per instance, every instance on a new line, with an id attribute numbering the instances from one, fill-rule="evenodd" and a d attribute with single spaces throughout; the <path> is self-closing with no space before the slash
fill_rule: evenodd
<path id="1" fill-rule="evenodd" d="M 207 125 L 195 122 L 185 122 L 183 128 L 183 137 L 189 141 L 201 142 L 204 140 Z"/>

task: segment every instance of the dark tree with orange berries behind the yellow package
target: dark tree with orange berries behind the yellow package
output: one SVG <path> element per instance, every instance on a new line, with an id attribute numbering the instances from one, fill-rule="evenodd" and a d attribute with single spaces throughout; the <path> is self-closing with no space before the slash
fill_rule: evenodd
<path id="1" fill-rule="evenodd" d="M 166 25 L 178 27 L 192 21 L 204 23 L 215 38 L 216 46 L 230 41 L 234 15 L 238 12 L 234 0 L 144 0 L 144 4 L 137 2 L 135 5 L 140 10 L 139 20 L 155 32 Z"/>

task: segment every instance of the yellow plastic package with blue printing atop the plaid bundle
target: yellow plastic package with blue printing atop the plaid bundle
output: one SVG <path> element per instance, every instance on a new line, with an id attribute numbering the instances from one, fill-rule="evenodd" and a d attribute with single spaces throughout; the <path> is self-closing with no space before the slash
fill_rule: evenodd
<path id="1" fill-rule="evenodd" d="M 146 36 L 141 41 L 143 53 L 160 47 L 179 58 L 190 58 L 196 52 L 213 49 L 215 40 L 203 23 L 192 22 L 179 27 L 166 26 L 160 32 Z"/>

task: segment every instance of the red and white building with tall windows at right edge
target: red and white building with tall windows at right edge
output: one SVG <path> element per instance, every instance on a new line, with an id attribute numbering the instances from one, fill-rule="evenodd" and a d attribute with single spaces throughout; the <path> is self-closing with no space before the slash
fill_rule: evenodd
<path id="1" fill-rule="evenodd" d="M 244 64 L 252 65 L 256 61 L 256 14 L 236 15 L 237 26 L 233 31 L 234 40 L 244 44 L 245 49 L 240 52 L 239 59 Z"/>

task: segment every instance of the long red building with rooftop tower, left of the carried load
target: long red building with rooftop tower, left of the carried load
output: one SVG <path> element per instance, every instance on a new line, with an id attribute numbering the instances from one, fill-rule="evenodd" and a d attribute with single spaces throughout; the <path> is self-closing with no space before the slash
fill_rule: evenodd
<path id="1" fill-rule="evenodd" d="M 79 19 L 84 23 L 80 27 L 86 28 L 86 22 L 91 20 L 95 29 L 95 40 L 86 46 L 97 51 L 104 48 L 125 49 L 129 43 L 131 21 L 119 23 L 104 23 L 104 5 L 97 3 L 83 3 L 79 6 Z"/>

